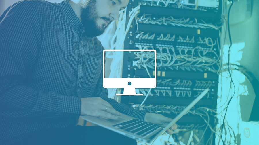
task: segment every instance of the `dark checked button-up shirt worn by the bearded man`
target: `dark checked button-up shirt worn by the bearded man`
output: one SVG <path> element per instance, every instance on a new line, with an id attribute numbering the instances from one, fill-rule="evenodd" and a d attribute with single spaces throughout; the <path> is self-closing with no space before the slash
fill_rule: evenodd
<path id="1" fill-rule="evenodd" d="M 0 144 L 75 126 L 82 97 L 102 97 L 117 111 L 144 119 L 146 111 L 108 99 L 102 87 L 103 47 L 83 32 L 68 0 L 23 0 L 1 15 Z"/>

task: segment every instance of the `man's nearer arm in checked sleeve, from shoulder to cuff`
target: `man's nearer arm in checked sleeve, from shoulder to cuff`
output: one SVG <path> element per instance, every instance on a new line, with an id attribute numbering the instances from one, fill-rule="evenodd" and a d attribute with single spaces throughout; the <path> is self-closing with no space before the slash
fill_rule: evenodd
<path id="1" fill-rule="evenodd" d="M 80 114 L 81 100 L 30 87 L 43 28 L 31 1 L 9 7 L 0 17 L 0 115 L 56 119 Z"/>

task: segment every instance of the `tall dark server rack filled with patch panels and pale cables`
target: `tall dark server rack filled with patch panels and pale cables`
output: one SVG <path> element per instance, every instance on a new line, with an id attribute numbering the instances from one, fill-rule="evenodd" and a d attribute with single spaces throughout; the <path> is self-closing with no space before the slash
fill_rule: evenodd
<path id="1" fill-rule="evenodd" d="M 194 57 L 196 59 L 206 57 L 212 60 L 212 62 L 214 60 L 215 63 L 210 62 L 206 64 L 207 59 L 205 59 L 204 62 L 192 62 L 196 63 L 196 66 L 190 64 L 189 66 L 172 65 L 157 67 L 157 87 L 151 90 L 148 99 L 144 103 L 146 107 L 139 105 L 145 96 L 122 96 L 121 103 L 128 104 L 136 109 L 146 109 L 152 113 L 161 113 L 166 117 L 174 118 L 177 112 L 181 111 L 199 93 L 209 87 L 210 91 L 191 109 L 192 111 L 200 111 L 201 109 L 199 110 L 199 108 L 206 108 L 207 110 L 205 111 L 207 111 L 208 116 L 201 117 L 201 115 L 188 113 L 177 122 L 178 128 L 196 130 L 198 138 L 201 138 L 203 131 L 207 128 L 207 123 L 204 119 L 208 121 L 210 118 L 209 124 L 212 128 L 218 123 L 213 110 L 216 109 L 218 97 L 218 71 L 215 70 L 220 70 L 221 64 L 219 34 L 221 31 L 222 3 L 218 1 L 218 5 L 214 8 L 196 6 L 197 9 L 193 10 L 195 7 L 190 5 L 185 5 L 185 8 L 178 8 L 178 3 L 170 3 L 165 7 L 163 3 L 157 5 L 157 1 L 130 0 L 126 14 L 137 6 L 140 7 L 140 13 L 130 26 L 129 32 L 126 35 L 124 49 L 143 49 L 146 47 L 145 49 L 157 50 L 157 53 L 170 53 L 175 56 L 181 56 L 175 58 L 173 64 L 187 61 L 187 56 L 192 56 L 191 60 Z M 144 22 L 161 18 L 166 19 L 168 17 L 183 21 L 188 20 L 188 23 L 179 23 L 179 25 L 169 25 L 167 23 L 166 25 L 163 23 Z M 127 15 L 126 23 L 128 21 L 129 16 Z M 191 24 L 195 26 L 197 23 L 203 23 L 204 27 L 183 26 Z M 218 29 L 212 25 L 218 26 Z M 146 69 L 136 68 L 132 65 L 133 61 L 133 54 L 125 54 L 123 56 L 123 66 L 127 66 L 123 67 L 123 77 L 148 77 Z M 152 74 L 152 69 L 149 71 Z M 145 94 L 149 89 L 138 88 L 138 90 L 140 93 Z M 174 109 L 175 107 L 176 109 Z M 206 144 L 211 134 L 211 130 L 207 129 L 200 143 Z M 179 135 L 176 134 L 175 136 Z M 182 134 L 182 136 L 186 135 Z M 197 143 L 197 140 L 194 143 Z M 212 144 L 215 144 L 215 135 L 213 135 Z"/>

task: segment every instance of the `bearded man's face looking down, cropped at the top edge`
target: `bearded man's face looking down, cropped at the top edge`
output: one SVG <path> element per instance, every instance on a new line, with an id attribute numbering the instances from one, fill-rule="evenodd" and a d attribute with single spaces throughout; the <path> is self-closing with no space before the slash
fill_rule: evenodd
<path id="1" fill-rule="evenodd" d="M 90 37 L 103 34 L 112 21 L 119 17 L 119 11 L 127 7 L 129 0 L 80 0 L 81 22 Z"/>

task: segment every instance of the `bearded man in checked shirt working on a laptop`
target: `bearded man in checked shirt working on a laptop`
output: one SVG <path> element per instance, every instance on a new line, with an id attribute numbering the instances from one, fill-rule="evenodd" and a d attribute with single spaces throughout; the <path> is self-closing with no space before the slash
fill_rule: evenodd
<path id="1" fill-rule="evenodd" d="M 96 36 L 128 2 L 23 0 L 1 15 L 0 144 L 136 144 L 101 127 L 76 126 L 79 115 L 172 120 L 108 99 L 102 87 Z"/>

